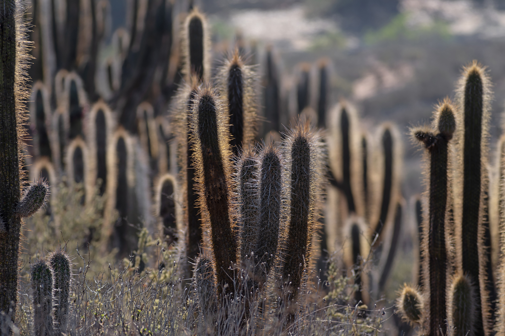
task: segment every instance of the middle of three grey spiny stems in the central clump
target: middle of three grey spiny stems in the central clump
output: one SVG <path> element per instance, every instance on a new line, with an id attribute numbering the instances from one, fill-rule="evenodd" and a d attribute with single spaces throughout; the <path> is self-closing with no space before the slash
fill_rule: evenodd
<path id="1" fill-rule="evenodd" d="M 284 165 L 279 150 L 273 143 L 260 154 L 260 208 L 255 246 L 255 274 L 262 289 L 276 260 L 281 223 Z"/>

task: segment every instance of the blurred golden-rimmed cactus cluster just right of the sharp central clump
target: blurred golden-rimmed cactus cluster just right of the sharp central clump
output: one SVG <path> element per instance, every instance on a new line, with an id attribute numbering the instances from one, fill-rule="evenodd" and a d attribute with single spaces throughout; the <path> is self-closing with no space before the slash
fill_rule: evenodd
<path id="1" fill-rule="evenodd" d="M 332 251 L 336 250 L 333 246 L 343 248 L 349 270 L 357 267 L 362 273 L 360 264 L 369 256 L 378 263 L 378 273 L 359 274 L 356 279 L 355 297 L 368 304 L 370 290 L 376 298 L 384 290 L 399 238 L 401 141 L 391 123 L 381 125 L 375 137 L 368 135 L 360 129 L 355 108 L 346 101 L 334 108 L 330 118 L 327 146 L 332 187 L 327 189 L 336 190 L 328 190 L 327 201 L 336 207 L 326 209 L 326 230 L 331 230 L 328 245 Z M 328 223 L 329 219 L 335 223 Z"/>

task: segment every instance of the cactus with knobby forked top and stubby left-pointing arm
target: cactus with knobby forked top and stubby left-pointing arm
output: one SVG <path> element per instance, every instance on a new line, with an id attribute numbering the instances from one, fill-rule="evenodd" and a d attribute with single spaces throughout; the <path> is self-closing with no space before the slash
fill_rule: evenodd
<path id="1" fill-rule="evenodd" d="M 455 109 L 446 99 L 434 114 L 434 125 L 416 128 L 412 135 L 425 148 L 429 211 L 423 219 L 423 292 L 426 303 L 423 309 L 423 331 L 430 336 L 446 331 L 446 283 L 449 261 L 446 239 L 451 208 L 451 176 L 449 141 L 456 130 Z"/>

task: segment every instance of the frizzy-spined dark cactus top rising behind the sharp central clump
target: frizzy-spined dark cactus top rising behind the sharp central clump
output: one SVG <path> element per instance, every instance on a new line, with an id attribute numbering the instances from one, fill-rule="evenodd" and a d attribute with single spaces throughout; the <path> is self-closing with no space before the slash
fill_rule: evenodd
<path id="1" fill-rule="evenodd" d="M 220 70 L 220 92 L 230 118 L 230 147 L 234 156 L 247 146 L 257 132 L 256 73 L 251 65 L 245 65 L 235 50 Z"/>

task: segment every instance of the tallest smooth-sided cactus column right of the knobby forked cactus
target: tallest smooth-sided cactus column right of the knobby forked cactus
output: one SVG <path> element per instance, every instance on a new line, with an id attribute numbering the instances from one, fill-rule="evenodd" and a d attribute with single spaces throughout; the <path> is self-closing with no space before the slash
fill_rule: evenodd
<path id="1" fill-rule="evenodd" d="M 485 192 L 487 191 L 487 137 L 491 99 L 490 82 L 477 61 L 464 68 L 459 83 L 458 100 L 462 113 L 461 157 L 455 183 L 455 225 L 457 263 L 477 286 L 475 332 L 489 334 L 489 298 L 486 289 L 487 263 L 484 246 Z"/>

